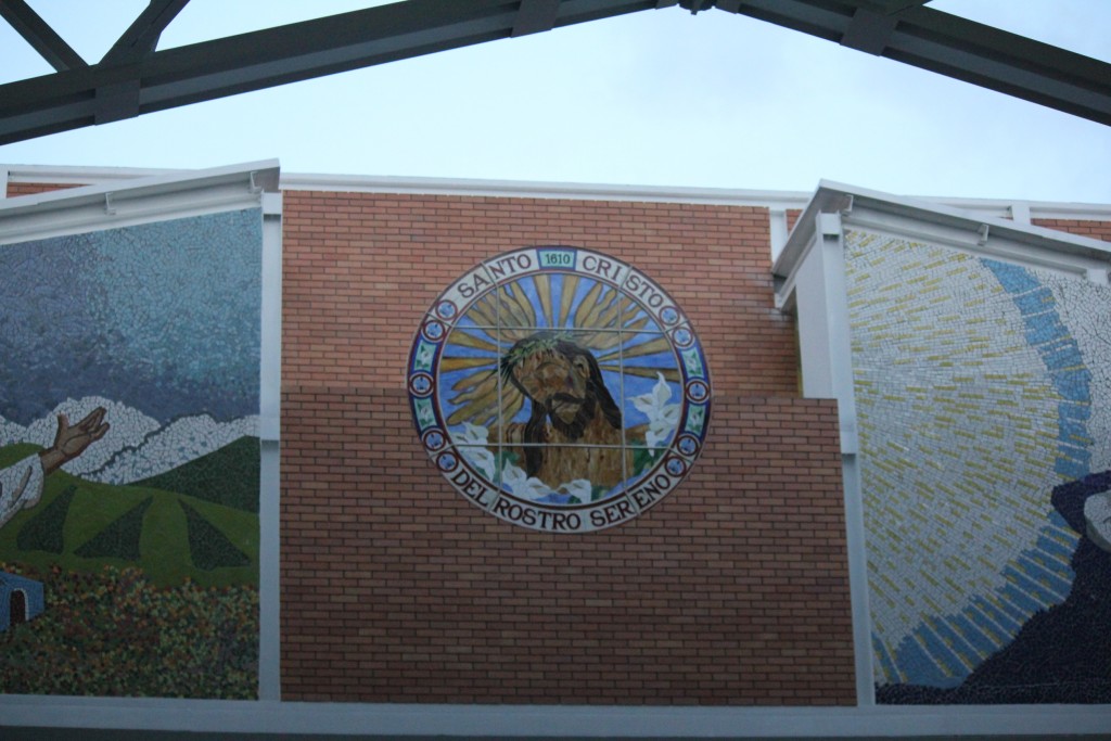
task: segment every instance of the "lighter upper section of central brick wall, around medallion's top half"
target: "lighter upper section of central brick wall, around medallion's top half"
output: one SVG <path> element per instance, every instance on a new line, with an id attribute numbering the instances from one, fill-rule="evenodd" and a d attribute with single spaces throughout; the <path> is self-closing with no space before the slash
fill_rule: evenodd
<path id="1" fill-rule="evenodd" d="M 660 282 L 714 349 L 718 393 L 795 394 L 760 209 L 312 192 L 286 192 L 283 208 L 287 383 L 396 387 L 418 320 L 453 279 L 506 250 L 564 243 Z"/>

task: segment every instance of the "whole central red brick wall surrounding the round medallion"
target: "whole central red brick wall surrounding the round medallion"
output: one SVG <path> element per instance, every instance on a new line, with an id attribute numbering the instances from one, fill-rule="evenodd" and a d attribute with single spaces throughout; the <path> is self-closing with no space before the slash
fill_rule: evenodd
<path id="1" fill-rule="evenodd" d="M 837 410 L 797 398 L 768 216 L 655 203 L 287 192 L 288 700 L 852 704 Z M 642 517 L 534 532 L 457 494 L 404 393 L 420 317 L 479 260 L 612 254 L 691 317 L 714 408 Z"/>

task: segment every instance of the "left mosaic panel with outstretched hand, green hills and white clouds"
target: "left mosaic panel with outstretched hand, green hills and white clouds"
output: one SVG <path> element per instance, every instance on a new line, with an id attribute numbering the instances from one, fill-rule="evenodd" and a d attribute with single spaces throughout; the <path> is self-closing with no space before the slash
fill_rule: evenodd
<path id="1" fill-rule="evenodd" d="M 253 699 L 262 216 L 0 247 L 0 692 Z"/>

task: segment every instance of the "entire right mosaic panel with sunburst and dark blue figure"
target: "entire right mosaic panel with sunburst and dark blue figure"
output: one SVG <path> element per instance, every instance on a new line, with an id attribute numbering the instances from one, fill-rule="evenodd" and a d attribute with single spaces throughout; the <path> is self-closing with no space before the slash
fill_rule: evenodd
<path id="1" fill-rule="evenodd" d="M 1111 702 L 1111 289 L 862 231 L 845 266 L 878 700 Z"/>

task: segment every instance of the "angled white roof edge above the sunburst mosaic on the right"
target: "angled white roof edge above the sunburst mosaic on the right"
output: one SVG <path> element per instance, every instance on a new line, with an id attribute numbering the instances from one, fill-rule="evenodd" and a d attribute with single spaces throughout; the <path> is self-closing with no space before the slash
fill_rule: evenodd
<path id="1" fill-rule="evenodd" d="M 1108 211 L 1111 220 L 1111 208 Z M 1088 277 L 1111 268 L 1108 242 L 823 180 L 772 267 L 778 306 L 790 304 L 792 274 L 814 243 L 819 213 L 839 213 L 845 228 L 870 229 L 1073 276 Z"/>

